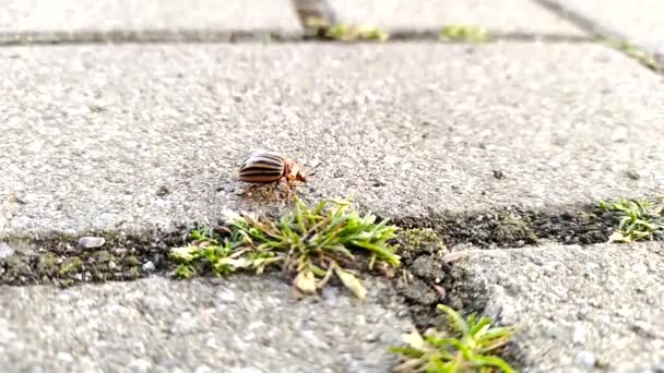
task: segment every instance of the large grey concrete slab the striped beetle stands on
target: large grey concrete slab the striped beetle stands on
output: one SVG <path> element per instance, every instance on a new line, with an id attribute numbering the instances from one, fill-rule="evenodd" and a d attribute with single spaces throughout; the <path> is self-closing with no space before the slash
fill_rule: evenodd
<path id="1" fill-rule="evenodd" d="M 3 234 L 284 207 L 240 195 L 256 148 L 318 164 L 305 201 L 391 217 L 664 186 L 664 81 L 596 45 L 16 47 L 0 63 Z"/>

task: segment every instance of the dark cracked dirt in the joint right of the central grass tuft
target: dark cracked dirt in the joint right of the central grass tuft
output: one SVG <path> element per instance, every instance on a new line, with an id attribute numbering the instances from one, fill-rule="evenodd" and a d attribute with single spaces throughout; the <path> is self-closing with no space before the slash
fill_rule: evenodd
<path id="1" fill-rule="evenodd" d="M 395 224 L 404 229 L 396 239 L 403 272 L 394 285 L 408 304 L 413 322 L 424 332 L 444 322 L 436 310 L 438 303 L 467 312 L 482 311 L 482 300 L 465 304 L 454 293 L 455 286 L 464 281 L 458 270 L 452 270 L 459 258 L 455 253 L 469 248 L 509 250 L 547 242 L 607 242 L 617 220 L 615 215 L 585 205 L 430 214 L 426 218 L 402 218 Z"/>

